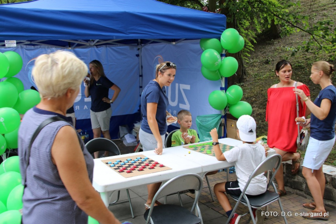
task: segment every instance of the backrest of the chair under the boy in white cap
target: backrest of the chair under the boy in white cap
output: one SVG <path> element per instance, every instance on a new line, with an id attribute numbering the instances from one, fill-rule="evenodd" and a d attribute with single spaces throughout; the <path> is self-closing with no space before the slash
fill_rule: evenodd
<path id="1" fill-rule="evenodd" d="M 281 161 L 282 161 L 282 157 L 279 154 L 274 154 L 271 155 L 269 157 L 266 157 L 265 160 L 263 160 L 252 172 L 252 174 L 250 175 L 250 177 L 248 178 L 248 181 L 246 182 L 246 185 L 243 189 L 243 191 L 241 192 L 242 194 L 245 194 L 245 191 L 249 185 L 249 183 L 251 182 L 251 180 L 258 176 L 259 174 L 264 173 L 265 171 L 271 170 L 271 169 L 275 169 L 275 171 L 272 174 L 272 177 L 269 179 L 267 188 L 270 186 L 270 184 L 272 183 L 275 174 L 278 172 L 278 169 L 280 168 L 281 165 Z"/>

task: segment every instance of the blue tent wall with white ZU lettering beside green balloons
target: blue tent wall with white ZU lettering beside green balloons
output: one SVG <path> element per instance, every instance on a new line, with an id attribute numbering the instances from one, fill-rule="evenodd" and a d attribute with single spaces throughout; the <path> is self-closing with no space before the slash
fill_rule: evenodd
<path id="1" fill-rule="evenodd" d="M 220 90 L 221 81 L 210 81 L 201 73 L 201 54 L 199 40 L 172 44 L 149 44 L 142 48 L 143 87 L 155 79 L 155 66 L 164 61 L 176 64 L 174 82 L 167 88 L 168 111 L 176 116 L 180 110 L 190 111 L 193 117 L 192 129 L 196 129 L 198 115 L 220 113 L 213 109 L 208 97 L 211 92 Z"/>

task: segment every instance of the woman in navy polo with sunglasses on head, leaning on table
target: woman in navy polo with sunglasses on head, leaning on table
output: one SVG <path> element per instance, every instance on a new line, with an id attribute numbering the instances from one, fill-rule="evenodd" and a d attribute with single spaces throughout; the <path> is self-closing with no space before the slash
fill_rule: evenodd
<path id="1" fill-rule="evenodd" d="M 166 86 L 170 86 L 175 79 L 176 65 L 172 62 L 158 64 L 155 69 L 155 79 L 151 80 L 141 94 L 142 122 L 139 139 L 144 151 L 154 150 L 161 155 L 167 132 L 166 115 L 169 105 L 166 96 Z M 149 184 L 148 199 L 145 203 L 148 209 L 161 183 Z M 157 205 L 157 203 L 156 203 Z"/>

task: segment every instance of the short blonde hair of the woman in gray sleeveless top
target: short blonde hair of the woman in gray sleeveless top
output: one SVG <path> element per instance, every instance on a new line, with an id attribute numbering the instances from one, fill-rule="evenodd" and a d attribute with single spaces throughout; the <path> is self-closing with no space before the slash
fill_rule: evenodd
<path id="1" fill-rule="evenodd" d="M 68 51 L 42 54 L 35 60 L 32 76 L 41 98 L 58 98 L 77 90 L 88 74 L 86 64 Z"/>

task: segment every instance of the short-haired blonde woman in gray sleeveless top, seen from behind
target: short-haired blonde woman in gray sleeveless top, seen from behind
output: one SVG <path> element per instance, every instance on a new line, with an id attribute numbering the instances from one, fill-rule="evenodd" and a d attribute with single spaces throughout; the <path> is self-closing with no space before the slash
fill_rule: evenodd
<path id="1" fill-rule="evenodd" d="M 26 180 L 22 223 L 85 224 L 89 215 L 101 224 L 120 224 L 92 186 L 93 158 L 70 123 L 46 125 L 29 158 L 27 154 L 32 135 L 44 120 L 66 119 L 88 74 L 87 66 L 73 53 L 57 51 L 40 55 L 32 74 L 42 100 L 25 113 L 19 129 L 20 172 Z"/>

